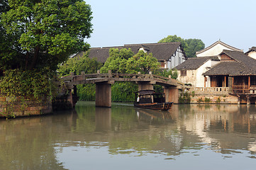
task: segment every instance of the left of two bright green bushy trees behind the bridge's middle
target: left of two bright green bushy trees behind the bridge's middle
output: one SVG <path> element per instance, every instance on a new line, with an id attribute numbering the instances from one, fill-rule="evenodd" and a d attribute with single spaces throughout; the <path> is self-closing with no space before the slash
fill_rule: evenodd
<path id="1" fill-rule="evenodd" d="M 130 57 L 133 57 L 133 52 L 130 48 L 127 50 L 123 48 L 118 50 L 118 48 L 111 48 L 109 50 L 109 57 L 106 60 L 103 67 L 101 67 L 102 73 L 107 73 L 108 70 L 116 73 L 125 73 L 126 72 L 126 63 Z"/>

